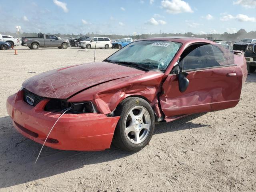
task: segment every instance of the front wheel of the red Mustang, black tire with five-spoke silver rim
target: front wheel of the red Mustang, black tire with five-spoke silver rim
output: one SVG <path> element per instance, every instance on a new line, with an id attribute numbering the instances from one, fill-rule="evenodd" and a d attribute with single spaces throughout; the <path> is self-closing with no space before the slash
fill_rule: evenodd
<path id="1" fill-rule="evenodd" d="M 114 114 L 120 116 L 120 119 L 114 132 L 113 144 L 128 152 L 144 148 L 152 138 L 155 127 L 150 104 L 142 98 L 129 97 L 117 106 Z"/>

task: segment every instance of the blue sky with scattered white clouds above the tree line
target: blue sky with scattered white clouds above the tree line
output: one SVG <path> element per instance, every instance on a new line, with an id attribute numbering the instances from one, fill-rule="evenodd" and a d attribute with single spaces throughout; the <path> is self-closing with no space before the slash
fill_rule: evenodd
<path id="1" fill-rule="evenodd" d="M 1 3 L 2 2 L 2 3 Z M 256 30 L 256 0 L 0 0 L 0 31 L 61 34 Z"/>

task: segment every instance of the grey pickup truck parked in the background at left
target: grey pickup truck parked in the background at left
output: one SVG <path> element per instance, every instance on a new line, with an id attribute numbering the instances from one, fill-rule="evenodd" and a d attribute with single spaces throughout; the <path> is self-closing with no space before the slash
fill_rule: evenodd
<path id="1" fill-rule="evenodd" d="M 58 47 L 59 49 L 68 48 L 68 40 L 52 34 L 39 33 L 38 37 L 22 37 L 22 46 L 28 46 L 30 49 L 38 49 L 39 47 Z"/>

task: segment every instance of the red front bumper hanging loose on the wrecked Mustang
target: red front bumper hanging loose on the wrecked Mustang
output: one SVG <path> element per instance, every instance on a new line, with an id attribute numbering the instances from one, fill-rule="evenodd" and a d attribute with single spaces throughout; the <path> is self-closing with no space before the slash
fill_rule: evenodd
<path id="1" fill-rule="evenodd" d="M 44 111 L 48 100 L 30 106 L 23 91 L 9 96 L 6 107 L 13 125 L 25 137 L 43 144 L 60 113 Z M 110 148 L 118 117 L 104 114 L 64 114 L 45 145 L 60 150 L 98 151 Z"/>

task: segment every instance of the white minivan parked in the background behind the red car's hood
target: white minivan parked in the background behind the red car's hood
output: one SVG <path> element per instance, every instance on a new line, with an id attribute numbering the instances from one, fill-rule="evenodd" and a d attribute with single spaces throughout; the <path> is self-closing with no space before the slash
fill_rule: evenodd
<path id="1" fill-rule="evenodd" d="M 85 41 L 79 42 L 79 47 L 84 48 L 105 48 L 108 49 L 111 45 L 110 39 L 108 37 L 90 37 Z"/>

